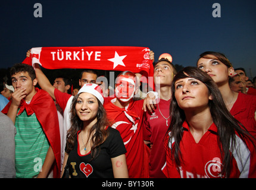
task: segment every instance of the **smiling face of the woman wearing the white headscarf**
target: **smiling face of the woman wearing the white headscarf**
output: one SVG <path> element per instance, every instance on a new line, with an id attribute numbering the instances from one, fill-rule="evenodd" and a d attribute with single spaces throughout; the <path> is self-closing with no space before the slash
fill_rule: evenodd
<path id="1" fill-rule="evenodd" d="M 77 98 L 76 114 L 82 121 L 93 121 L 98 114 L 98 100 L 90 93 L 81 93 Z"/>

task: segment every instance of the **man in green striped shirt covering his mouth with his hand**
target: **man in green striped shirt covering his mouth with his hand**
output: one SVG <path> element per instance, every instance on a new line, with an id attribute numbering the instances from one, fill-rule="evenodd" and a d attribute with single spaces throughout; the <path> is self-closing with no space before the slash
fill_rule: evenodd
<path id="1" fill-rule="evenodd" d="M 38 79 L 32 66 L 15 64 L 10 74 L 14 93 L 2 112 L 17 129 L 16 178 L 47 178 L 52 166 L 54 178 L 59 178 L 60 131 L 54 101 L 46 91 L 35 87 Z"/>

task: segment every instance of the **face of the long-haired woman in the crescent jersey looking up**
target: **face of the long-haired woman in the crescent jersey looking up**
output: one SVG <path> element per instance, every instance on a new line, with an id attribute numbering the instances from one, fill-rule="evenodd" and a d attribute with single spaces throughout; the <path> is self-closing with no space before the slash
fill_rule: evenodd
<path id="1" fill-rule="evenodd" d="M 182 78 L 174 83 L 175 98 L 183 110 L 208 107 L 211 100 L 207 86 L 195 78 Z"/>

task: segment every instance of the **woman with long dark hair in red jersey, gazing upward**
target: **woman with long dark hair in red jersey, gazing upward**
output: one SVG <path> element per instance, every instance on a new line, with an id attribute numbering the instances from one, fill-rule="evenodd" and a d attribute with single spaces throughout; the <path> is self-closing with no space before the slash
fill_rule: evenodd
<path id="1" fill-rule="evenodd" d="M 233 118 L 216 83 L 195 67 L 173 79 L 166 136 L 168 178 L 255 178 L 252 136 Z"/>

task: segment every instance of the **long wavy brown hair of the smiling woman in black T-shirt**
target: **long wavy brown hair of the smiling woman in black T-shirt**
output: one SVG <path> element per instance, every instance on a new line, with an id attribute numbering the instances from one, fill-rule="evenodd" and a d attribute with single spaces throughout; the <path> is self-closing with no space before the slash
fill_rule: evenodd
<path id="1" fill-rule="evenodd" d="M 80 120 L 79 116 L 76 114 L 76 103 L 77 103 L 77 98 L 79 97 L 81 93 L 77 94 L 74 96 L 71 104 L 71 127 L 67 131 L 67 147 L 66 147 L 66 152 L 70 152 L 74 148 L 74 143 L 77 140 L 77 132 L 82 130 L 83 128 L 83 121 Z M 107 113 L 102 105 L 101 102 L 98 101 L 98 114 L 97 114 L 97 119 L 98 121 L 96 122 L 95 125 L 92 126 L 90 129 L 89 136 L 92 134 L 93 131 L 95 131 L 95 134 L 92 136 L 92 148 L 91 148 L 91 156 L 92 159 L 94 159 L 97 155 L 97 147 L 104 143 L 106 138 L 108 137 L 108 131 L 105 129 L 106 126 L 109 126 L 109 122 L 107 119 Z M 99 151 L 98 151 L 99 153 Z"/>

